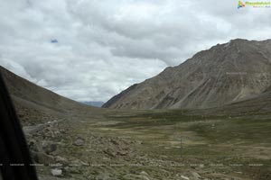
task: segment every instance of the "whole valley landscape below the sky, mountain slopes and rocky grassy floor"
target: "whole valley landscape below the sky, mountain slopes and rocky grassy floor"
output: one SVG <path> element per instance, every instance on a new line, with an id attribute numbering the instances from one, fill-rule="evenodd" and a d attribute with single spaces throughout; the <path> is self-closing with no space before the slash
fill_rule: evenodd
<path id="1" fill-rule="evenodd" d="M 103 108 L 0 71 L 41 180 L 269 180 L 270 43 L 203 50 Z"/>

